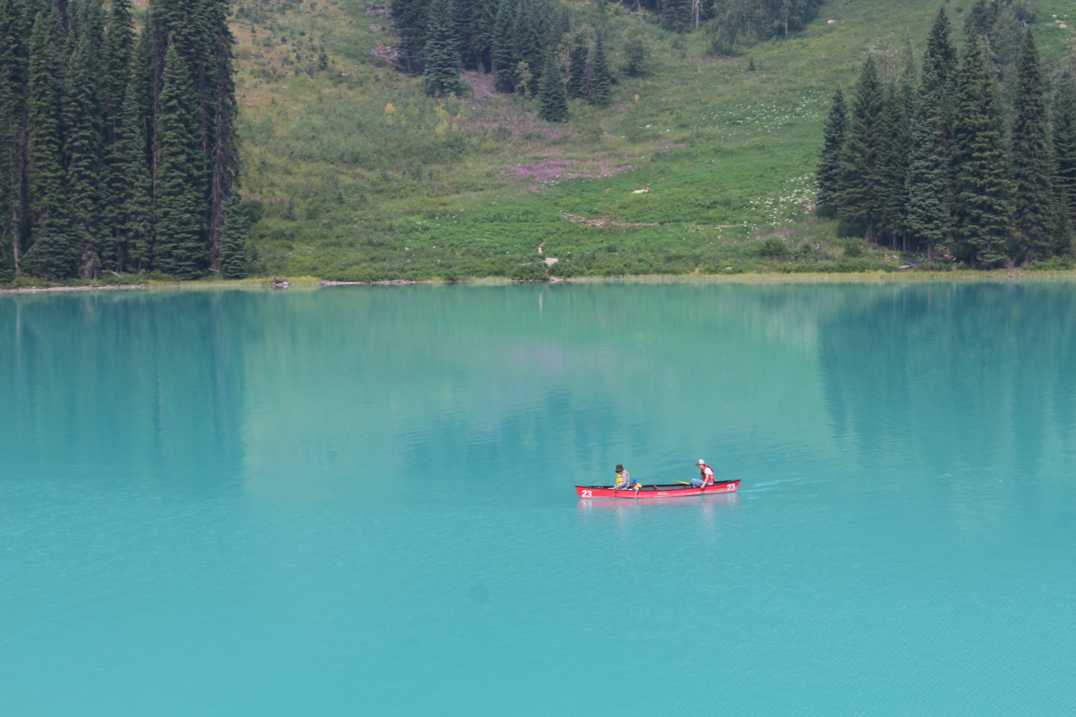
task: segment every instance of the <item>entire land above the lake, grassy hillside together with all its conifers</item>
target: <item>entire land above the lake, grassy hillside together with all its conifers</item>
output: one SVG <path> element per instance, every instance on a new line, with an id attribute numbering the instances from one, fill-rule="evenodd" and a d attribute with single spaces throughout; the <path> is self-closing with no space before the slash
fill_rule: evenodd
<path id="1" fill-rule="evenodd" d="M 5 288 L 1076 267 L 1062 0 L 132 2 L 0 0 Z"/>

